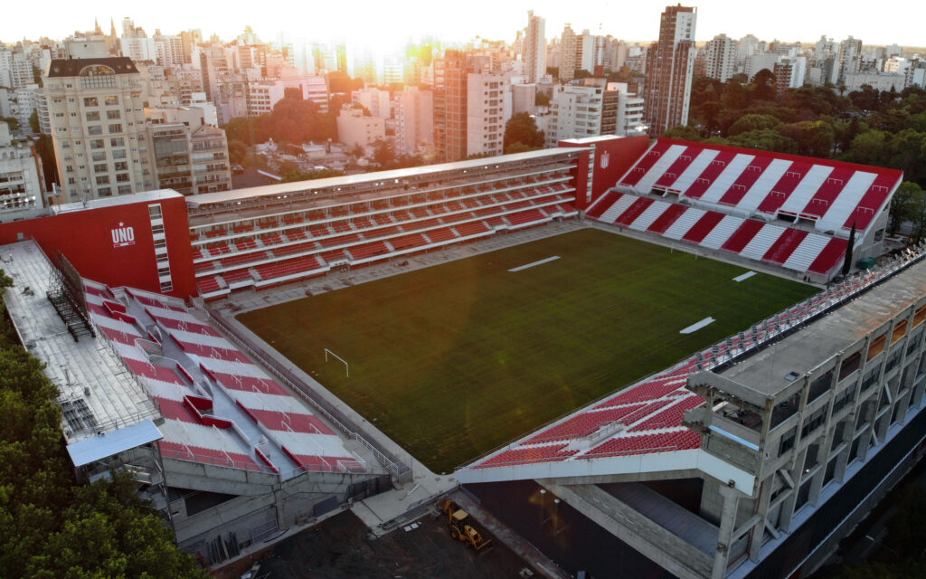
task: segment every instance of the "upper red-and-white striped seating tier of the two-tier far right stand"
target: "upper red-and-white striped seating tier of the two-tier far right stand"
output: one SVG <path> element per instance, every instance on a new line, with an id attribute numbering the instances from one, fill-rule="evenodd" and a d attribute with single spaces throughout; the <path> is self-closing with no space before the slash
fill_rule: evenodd
<path id="1" fill-rule="evenodd" d="M 727 145 L 660 138 L 617 183 L 679 195 L 723 213 L 806 219 L 820 232 L 866 230 L 903 171 Z"/>

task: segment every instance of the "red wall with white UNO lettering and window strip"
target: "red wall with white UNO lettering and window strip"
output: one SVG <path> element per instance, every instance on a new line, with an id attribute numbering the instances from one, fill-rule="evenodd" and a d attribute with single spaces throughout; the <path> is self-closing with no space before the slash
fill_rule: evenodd
<path id="1" fill-rule="evenodd" d="M 143 196 L 144 194 L 140 194 Z M 164 219 L 173 291 L 186 299 L 196 294 L 193 250 L 183 197 L 147 198 L 136 203 L 91 207 L 33 220 L 0 223 L 0 244 L 34 239 L 48 258 L 61 252 L 81 276 L 113 287 L 128 285 L 160 292 L 155 241 L 148 206 L 159 204 Z M 115 246 L 112 230 L 132 228 L 131 245 Z"/>

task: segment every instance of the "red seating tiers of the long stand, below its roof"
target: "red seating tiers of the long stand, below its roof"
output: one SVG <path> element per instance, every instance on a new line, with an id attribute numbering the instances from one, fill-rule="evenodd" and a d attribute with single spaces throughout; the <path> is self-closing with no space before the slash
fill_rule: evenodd
<path id="1" fill-rule="evenodd" d="M 364 201 L 368 212 L 358 209 L 355 201 L 350 208 L 292 211 L 260 220 L 257 227 L 245 224 L 231 231 L 228 226 L 204 225 L 201 234 L 192 235 L 194 243 L 201 245 L 194 246 L 197 289 L 206 298 L 219 297 L 232 288 L 259 288 L 322 275 L 344 262 L 365 265 L 576 217 L 574 190 L 553 181 L 565 179 L 551 172 L 545 177 L 483 183 L 465 192 L 409 192 L 388 201 Z M 228 235 L 233 237 L 229 242 L 221 239 L 219 245 L 212 241 L 209 246 L 210 240 Z M 343 251 L 331 254 L 335 249 Z M 309 260 L 296 262 L 296 258 Z"/>

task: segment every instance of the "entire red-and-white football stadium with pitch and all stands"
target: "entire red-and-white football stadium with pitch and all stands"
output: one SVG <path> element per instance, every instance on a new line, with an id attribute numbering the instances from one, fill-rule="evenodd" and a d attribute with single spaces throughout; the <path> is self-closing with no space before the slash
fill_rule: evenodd
<path id="1" fill-rule="evenodd" d="M 922 453 L 901 181 L 595 137 L 58 206 L 0 255 L 77 476 L 208 564 L 462 485 L 566 573 L 800 576 Z"/>

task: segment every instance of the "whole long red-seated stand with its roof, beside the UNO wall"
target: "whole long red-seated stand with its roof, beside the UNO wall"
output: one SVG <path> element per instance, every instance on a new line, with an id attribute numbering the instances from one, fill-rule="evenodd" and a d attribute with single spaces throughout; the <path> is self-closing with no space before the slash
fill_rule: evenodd
<path id="1" fill-rule="evenodd" d="M 265 288 L 578 215 L 581 152 L 534 151 L 189 198 L 200 295 Z"/>

